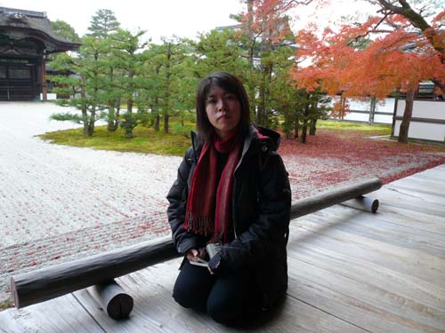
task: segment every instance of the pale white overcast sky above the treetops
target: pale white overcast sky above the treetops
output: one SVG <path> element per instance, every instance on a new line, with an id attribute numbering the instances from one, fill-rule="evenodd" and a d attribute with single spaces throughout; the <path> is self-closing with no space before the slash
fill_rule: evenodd
<path id="1" fill-rule="evenodd" d="M 328 25 L 340 15 L 352 13 L 357 5 L 352 0 L 336 0 L 334 8 L 317 11 L 317 20 Z M 121 28 L 135 32 L 147 30 L 147 36 L 158 43 L 160 36 L 196 37 L 198 32 L 236 24 L 231 13 L 245 11 L 239 0 L 0 0 L 0 6 L 46 12 L 49 20 L 64 20 L 76 29 L 79 36 L 87 32 L 90 20 L 98 9 L 115 12 Z M 363 11 L 363 3 L 358 7 Z M 373 12 L 368 10 L 369 12 Z M 311 7 L 297 8 L 300 24 L 312 17 Z M 296 20 L 296 19 L 295 19 Z"/>

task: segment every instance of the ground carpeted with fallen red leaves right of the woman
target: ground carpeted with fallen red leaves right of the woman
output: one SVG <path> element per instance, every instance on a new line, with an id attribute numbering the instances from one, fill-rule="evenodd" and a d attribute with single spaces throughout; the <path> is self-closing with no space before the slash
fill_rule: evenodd
<path id="1" fill-rule="evenodd" d="M 283 139 L 283 156 L 293 200 L 311 196 L 354 179 L 376 176 L 384 183 L 445 163 L 445 149 L 369 139 L 362 132 L 318 130 L 306 144 Z"/>

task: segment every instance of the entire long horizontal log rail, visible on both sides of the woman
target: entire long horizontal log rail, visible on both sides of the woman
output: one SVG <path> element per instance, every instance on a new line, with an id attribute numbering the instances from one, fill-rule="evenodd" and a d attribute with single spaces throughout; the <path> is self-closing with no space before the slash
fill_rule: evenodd
<path id="1" fill-rule="evenodd" d="M 381 186 L 380 179 L 369 178 L 299 200 L 292 205 L 291 219 L 360 197 Z M 179 256 L 171 237 L 166 236 L 124 249 L 41 268 L 11 278 L 14 303 L 17 308 L 22 308 L 44 302 Z"/>

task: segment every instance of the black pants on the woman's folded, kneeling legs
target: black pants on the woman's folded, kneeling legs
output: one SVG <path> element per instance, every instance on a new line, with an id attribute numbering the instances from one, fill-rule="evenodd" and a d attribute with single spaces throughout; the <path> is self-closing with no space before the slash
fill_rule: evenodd
<path id="1" fill-rule="evenodd" d="M 248 271 L 216 277 L 206 267 L 193 266 L 185 260 L 173 297 L 186 308 L 206 311 L 214 321 L 238 325 L 247 321 L 263 306 L 263 296 Z"/>

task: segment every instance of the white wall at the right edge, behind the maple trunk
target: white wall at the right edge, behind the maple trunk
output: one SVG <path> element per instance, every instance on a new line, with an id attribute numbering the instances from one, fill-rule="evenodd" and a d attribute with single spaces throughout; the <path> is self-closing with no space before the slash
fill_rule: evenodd
<path id="1" fill-rule="evenodd" d="M 392 135 L 399 136 L 405 100 L 398 99 L 392 125 Z M 409 123 L 410 139 L 425 139 L 445 142 L 445 101 L 415 100 Z"/>

